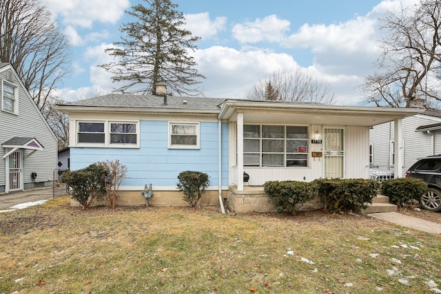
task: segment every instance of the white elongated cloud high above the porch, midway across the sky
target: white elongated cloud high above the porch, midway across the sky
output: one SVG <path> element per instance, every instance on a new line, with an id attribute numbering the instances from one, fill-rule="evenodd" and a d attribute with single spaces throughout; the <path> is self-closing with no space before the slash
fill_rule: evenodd
<path id="1" fill-rule="evenodd" d="M 275 14 L 254 22 L 236 24 L 232 33 L 240 43 L 257 43 L 260 41 L 282 41 L 289 30 L 289 21 L 279 19 Z"/>

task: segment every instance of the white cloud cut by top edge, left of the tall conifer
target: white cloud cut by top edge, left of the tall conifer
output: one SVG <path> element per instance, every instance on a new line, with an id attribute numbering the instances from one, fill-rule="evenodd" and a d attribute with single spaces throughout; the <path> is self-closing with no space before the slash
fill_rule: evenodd
<path id="1" fill-rule="evenodd" d="M 54 15 L 61 15 L 65 25 L 91 28 L 92 23 L 116 23 L 129 8 L 129 0 L 45 0 Z"/>

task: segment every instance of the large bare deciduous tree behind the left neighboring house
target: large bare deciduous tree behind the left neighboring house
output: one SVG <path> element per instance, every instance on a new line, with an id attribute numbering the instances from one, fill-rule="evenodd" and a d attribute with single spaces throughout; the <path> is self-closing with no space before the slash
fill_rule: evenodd
<path id="1" fill-rule="evenodd" d="M 70 44 L 39 0 L 0 3 L 0 61 L 11 63 L 40 110 L 70 72 Z"/>

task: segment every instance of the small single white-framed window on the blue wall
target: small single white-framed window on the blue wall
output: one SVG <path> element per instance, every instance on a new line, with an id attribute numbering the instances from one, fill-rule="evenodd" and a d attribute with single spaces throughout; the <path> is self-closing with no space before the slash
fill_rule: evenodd
<path id="1" fill-rule="evenodd" d="M 170 149 L 199 149 L 199 123 L 169 123 Z"/>

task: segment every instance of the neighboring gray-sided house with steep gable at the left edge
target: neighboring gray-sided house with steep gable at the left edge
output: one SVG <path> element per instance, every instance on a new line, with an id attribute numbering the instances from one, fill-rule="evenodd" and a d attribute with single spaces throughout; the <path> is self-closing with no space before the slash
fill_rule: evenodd
<path id="1" fill-rule="evenodd" d="M 57 138 L 10 63 L 0 63 L 0 99 L 0 193 L 52 186 Z"/>

